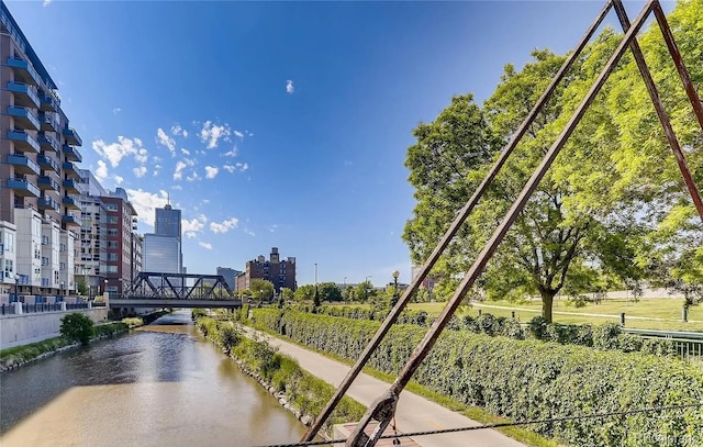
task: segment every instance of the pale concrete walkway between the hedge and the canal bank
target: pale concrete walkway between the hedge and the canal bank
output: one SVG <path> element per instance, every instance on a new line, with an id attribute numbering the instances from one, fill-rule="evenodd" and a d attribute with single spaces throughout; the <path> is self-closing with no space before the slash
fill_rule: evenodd
<path id="1" fill-rule="evenodd" d="M 301 368 L 310 371 L 315 377 L 327 383 L 338 387 L 350 367 L 332 360 L 312 350 L 308 350 L 292 343 L 275 338 L 266 334 L 259 334 L 271 346 L 276 346 L 279 353 L 294 358 Z M 347 395 L 369 406 L 371 402 L 388 390 L 389 383 L 360 373 Z M 399 432 L 421 432 L 442 428 L 455 428 L 481 425 L 476 421 L 462 416 L 431 402 L 424 398 L 403 391 L 400 395 L 395 412 L 395 425 Z M 518 443 L 493 429 L 479 429 L 473 432 L 451 433 L 432 436 L 419 436 L 413 438 L 423 447 L 520 447 Z"/>

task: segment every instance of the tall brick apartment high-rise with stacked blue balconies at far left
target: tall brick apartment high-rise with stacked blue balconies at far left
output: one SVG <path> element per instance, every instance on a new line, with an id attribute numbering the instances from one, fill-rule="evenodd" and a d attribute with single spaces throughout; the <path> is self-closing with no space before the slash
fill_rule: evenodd
<path id="1" fill-rule="evenodd" d="M 0 300 L 62 300 L 76 291 L 80 228 L 76 146 L 56 85 L 10 14 L 0 9 Z"/>

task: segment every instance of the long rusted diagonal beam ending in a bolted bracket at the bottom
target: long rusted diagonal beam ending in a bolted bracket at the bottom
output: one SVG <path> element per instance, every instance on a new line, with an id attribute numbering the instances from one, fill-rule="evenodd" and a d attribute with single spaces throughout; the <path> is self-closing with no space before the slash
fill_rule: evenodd
<path id="1" fill-rule="evenodd" d="M 479 275 L 486 267 L 486 264 L 489 261 L 489 259 L 491 258 L 491 256 L 493 255 L 493 253 L 495 252 L 500 243 L 503 241 L 503 237 L 505 236 L 505 234 L 507 233 L 512 224 L 517 219 L 517 214 L 520 214 L 520 212 L 525 208 L 525 204 L 529 200 L 532 193 L 535 191 L 535 189 L 539 185 L 539 181 L 543 179 L 543 177 L 547 172 L 547 169 L 549 169 L 549 167 L 551 166 L 553 161 L 555 160 L 555 158 L 557 157 L 557 155 L 559 154 L 559 152 L 568 141 L 569 136 L 571 136 L 571 134 L 573 133 L 573 130 L 579 124 L 579 122 L 581 121 L 581 118 L 583 118 L 583 114 L 588 110 L 589 105 L 591 104 L 591 102 L 593 102 L 593 99 L 595 98 L 598 92 L 601 90 L 601 88 L 605 83 L 613 68 L 617 65 L 623 54 L 629 46 L 631 42 L 636 37 L 637 32 L 639 32 L 643 24 L 645 23 L 645 20 L 651 12 L 651 4 L 654 1 L 656 0 L 649 0 L 647 2 L 645 8 L 641 10 L 639 15 L 633 23 L 632 27 L 625 33 L 623 41 L 617 46 L 617 49 L 615 51 L 613 56 L 610 58 L 610 60 L 607 62 L 607 64 L 599 75 L 598 79 L 591 86 L 591 89 L 587 93 L 585 98 L 582 100 L 581 104 L 579 104 L 579 108 L 573 112 L 573 115 L 567 123 L 563 131 L 561 131 L 561 134 L 559 134 L 559 137 L 557 138 L 557 141 L 551 145 L 551 147 L 545 155 L 544 159 L 539 164 L 539 167 L 536 169 L 535 172 L 533 172 L 532 177 L 529 178 L 524 189 L 520 193 L 517 200 L 513 203 L 513 205 L 511 206 L 507 214 L 504 216 L 501 224 L 498 226 L 498 228 L 495 230 L 491 238 L 488 241 L 488 243 L 486 244 L 486 246 L 483 247 L 483 249 L 475 260 L 473 265 L 471 266 L 466 277 L 459 284 L 459 289 L 455 292 L 449 303 L 445 306 L 443 312 L 433 323 L 429 331 L 425 334 L 423 339 L 415 347 L 415 350 L 411 355 L 410 359 L 401 370 L 395 381 L 391 384 L 388 392 L 383 394 L 386 399 L 377 400 L 375 402 L 375 405 L 371 405 L 368 409 L 368 411 L 364 415 L 362 421 L 368 421 L 375 414 L 384 413 L 382 410 L 384 410 L 383 405 L 388 405 L 388 399 L 393 396 L 397 398 L 398 395 L 400 395 L 400 392 L 405 388 L 405 385 L 410 381 L 415 370 L 420 367 L 420 364 L 425 359 L 425 357 L 434 346 L 435 342 L 439 337 L 439 334 L 442 333 L 444 327 L 447 325 L 449 319 L 451 317 L 456 309 L 459 306 L 461 299 L 466 295 L 466 293 L 469 291 L 471 286 L 473 286 L 476 279 L 479 277 Z M 387 415 L 383 415 L 383 416 L 384 418 L 379 421 L 379 426 L 384 424 L 384 427 L 386 427 L 388 426 L 390 418 L 388 418 Z M 376 445 L 376 442 L 378 440 L 378 436 L 375 436 L 376 433 L 371 436 L 371 438 L 369 438 L 366 434 L 364 434 L 365 427 L 360 427 L 360 425 L 361 424 L 357 425 L 357 428 L 355 429 L 355 432 L 347 439 L 346 445 L 349 447 Z M 382 429 L 380 431 L 380 433 L 382 433 Z"/>

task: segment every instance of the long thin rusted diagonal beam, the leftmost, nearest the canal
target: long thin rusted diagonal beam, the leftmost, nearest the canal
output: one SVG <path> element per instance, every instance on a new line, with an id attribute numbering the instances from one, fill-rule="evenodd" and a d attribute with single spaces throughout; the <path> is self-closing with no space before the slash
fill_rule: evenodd
<path id="1" fill-rule="evenodd" d="M 473 211 L 473 208 L 476 206 L 480 198 L 491 186 L 493 179 L 495 179 L 495 176 L 498 175 L 498 172 L 501 170 L 501 168 L 507 160 L 507 157 L 510 157 L 510 155 L 513 153 L 513 150 L 517 146 L 517 143 L 520 143 L 521 138 L 527 132 L 527 128 L 529 128 L 529 125 L 532 125 L 532 123 L 535 121 L 535 118 L 537 116 L 539 111 L 543 109 L 544 104 L 549 100 L 549 98 L 554 93 L 555 89 L 557 88 L 557 85 L 563 79 L 563 76 L 571 68 L 571 66 L 573 65 L 573 62 L 577 59 L 577 57 L 581 54 L 585 45 L 589 43 L 589 41 L 591 40 L 591 37 L 593 36 L 598 27 L 603 22 L 603 19 L 605 19 L 605 15 L 607 14 L 611 8 L 612 8 L 612 3 L 607 1 L 603 7 L 603 9 L 601 10 L 601 12 L 599 13 L 599 15 L 596 16 L 596 19 L 593 21 L 593 23 L 589 27 L 589 30 L 587 31 L 587 33 L 583 35 L 583 37 L 581 37 L 581 41 L 573 48 L 569 57 L 563 62 L 563 64 L 561 65 L 561 68 L 559 68 L 559 71 L 557 71 L 551 83 L 547 87 L 545 92 L 542 94 L 542 97 L 539 98 L 535 107 L 533 107 L 533 109 L 529 111 L 529 113 L 525 118 L 525 121 L 523 121 L 520 127 L 517 127 L 517 130 L 515 131 L 515 134 L 512 136 L 507 146 L 503 148 L 498 160 L 491 167 L 487 177 L 476 189 L 476 191 L 473 192 L 469 201 L 464 205 L 461 210 L 459 210 L 459 213 L 457 214 L 454 222 L 449 226 L 449 230 L 447 230 L 443 238 L 439 241 L 439 244 L 432 252 L 432 254 L 429 255 L 429 258 L 423 265 L 420 273 L 412 280 L 412 282 L 410 283 L 410 287 L 405 289 L 405 291 L 403 292 L 398 303 L 395 303 L 393 309 L 391 309 L 389 314 L 386 316 L 386 320 L 381 324 L 381 327 L 379 327 L 379 329 L 376 332 L 376 334 L 373 335 L 373 338 L 369 342 L 368 346 L 364 349 L 364 351 L 357 359 L 356 364 L 354 364 L 354 367 L 352 367 L 347 376 L 344 378 L 344 380 L 335 391 L 335 394 L 332 396 L 330 402 L 327 402 L 327 404 L 325 405 L 324 410 L 320 413 L 320 415 L 315 418 L 315 421 L 310 425 L 302 440 L 304 442 L 312 440 L 314 436 L 317 434 L 317 432 L 320 431 L 320 428 L 322 428 L 322 425 L 327 420 L 327 417 L 330 417 L 330 414 L 332 414 L 332 411 L 339 403 L 339 401 L 342 400 L 342 396 L 344 396 L 344 394 L 347 392 L 347 390 L 349 389 L 349 387 L 352 385 L 356 377 L 359 375 L 359 372 L 361 372 L 361 369 L 364 369 L 364 366 L 366 365 L 368 359 L 371 357 L 371 354 L 373 354 L 373 350 L 376 350 L 376 348 L 381 343 L 381 340 L 383 339 L 388 331 L 390 331 L 393 323 L 395 323 L 395 321 L 398 320 L 398 316 L 400 315 L 400 313 L 403 311 L 403 309 L 405 309 L 405 305 L 410 301 L 410 298 L 412 297 L 412 294 L 420 288 L 420 284 L 422 284 L 422 282 L 425 280 L 425 278 L 432 270 L 432 268 L 435 266 L 442 253 L 447 248 L 447 246 L 449 245 L 454 236 L 459 231 L 459 227 L 461 226 L 461 224 L 466 221 L 466 219 L 469 216 L 471 211 Z"/>

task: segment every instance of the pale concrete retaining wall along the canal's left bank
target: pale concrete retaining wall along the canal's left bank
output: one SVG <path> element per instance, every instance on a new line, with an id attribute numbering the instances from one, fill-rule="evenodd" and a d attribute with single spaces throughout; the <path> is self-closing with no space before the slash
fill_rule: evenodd
<path id="1" fill-rule="evenodd" d="M 105 308 L 4 315 L 0 319 L 0 349 L 57 337 L 62 327 L 62 319 L 72 312 L 81 312 L 94 323 L 108 319 Z"/>

